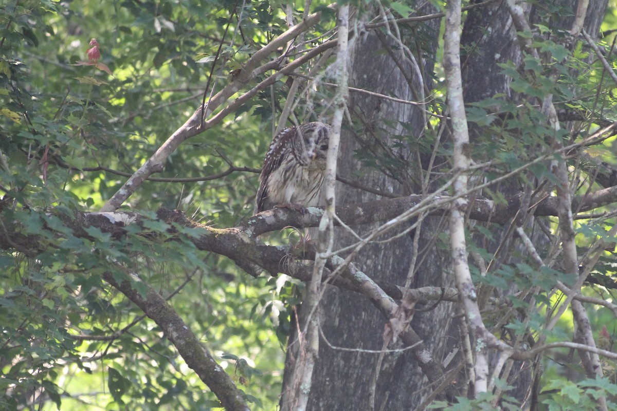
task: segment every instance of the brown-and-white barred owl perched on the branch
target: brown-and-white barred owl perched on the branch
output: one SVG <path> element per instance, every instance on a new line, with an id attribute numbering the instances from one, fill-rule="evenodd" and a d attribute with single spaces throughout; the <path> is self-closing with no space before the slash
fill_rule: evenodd
<path id="1" fill-rule="evenodd" d="M 315 121 L 277 134 L 263 160 L 255 213 L 276 205 L 319 205 L 330 126 Z"/>

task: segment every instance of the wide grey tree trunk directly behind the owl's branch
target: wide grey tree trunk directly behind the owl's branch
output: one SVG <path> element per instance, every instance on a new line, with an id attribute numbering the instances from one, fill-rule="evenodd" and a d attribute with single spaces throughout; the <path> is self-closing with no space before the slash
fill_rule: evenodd
<path id="1" fill-rule="evenodd" d="M 429 25 L 422 25 L 418 30 L 424 36 L 431 35 L 436 39 L 437 20 L 429 22 Z M 407 42 L 407 44 L 412 43 Z M 433 44 L 433 50 L 435 46 L 436 44 Z M 420 80 L 413 74 L 417 71 L 413 70 L 410 63 L 405 62 L 402 52 L 391 38 L 381 33 L 378 35 L 371 32 L 356 38 L 353 47 L 350 86 L 381 94 L 391 94 L 405 100 L 416 100 L 416 97 L 421 94 Z M 383 52 L 384 48 L 388 47 L 391 47 L 390 54 Z M 431 53 L 426 50 L 425 52 Z M 398 61 L 395 61 L 393 57 Z M 430 72 L 433 68 L 432 58 L 424 62 L 420 60 L 419 63 L 428 68 L 424 70 L 424 67 L 421 67 L 424 72 Z M 409 86 L 410 79 L 412 79 L 414 89 Z M 357 161 L 354 153 L 362 152 L 362 150 L 376 150 L 379 145 L 392 147 L 392 139 L 389 136 L 405 135 L 410 132 L 410 129 L 413 138 L 419 139 L 424 130 L 423 116 L 420 111 L 410 105 L 375 97 L 367 98 L 362 94 L 352 94 L 349 107 L 355 124 L 353 127 L 348 125 L 348 130 L 342 133 L 339 174 L 360 182 L 366 187 L 377 188 L 384 192 L 406 195 L 419 192 L 418 187 L 415 186 L 415 182 L 421 181 L 419 175 L 410 175 L 405 169 L 400 169 L 400 173 L 396 175 L 394 173 L 397 171 L 393 172 L 392 169 L 387 170 L 386 173 L 367 169 L 365 165 Z M 361 126 L 360 131 L 357 128 L 358 124 Z M 405 124 L 406 127 L 404 128 L 401 124 Z M 418 152 L 415 147 L 393 150 L 393 153 L 395 157 L 410 165 L 409 170 L 419 167 L 417 165 Z M 394 178 L 386 174 L 391 174 Z M 354 189 L 349 185 L 341 184 L 337 187 L 338 205 L 378 198 L 381 197 Z M 375 227 L 375 224 L 367 224 L 354 226 L 354 229 L 362 236 Z M 407 227 L 401 230 L 405 228 Z M 447 275 L 449 271 L 447 253 L 441 255 L 429 252 L 434 247 L 434 233 L 444 229 L 442 218 L 431 218 L 424 221 L 419 245 L 421 266 L 416 269 L 412 288 L 428 285 L 450 287 L 452 285 L 452 280 Z M 354 261 L 358 262 L 359 269 L 373 279 L 402 285 L 410 270 L 413 235 L 412 231 L 392 242 L 368 245 L 360 252 L 361 257 Z M 341 248 L 355 240 L 353 235 L 343 229 L 338 229 L 337 247 L 335 248 Z M 337 348 L 383 349 L 386 319 L 366 298 L 361 296 L 358 298 L 354 293 L 347 291 L 334 289 L 326 291 L 321 300 L 321 307 L 324 319 L 321 323 L 321 330 L 329 344 L 322 338 L 307 409 L 368 409 L 370 387 L 373 384 L 378 364 L 378 354 L 342 351 Z M 444 336 L 447 333 L 444 330 L 450 329 L 452 310 L 452 303 L 442 302 L 430 312 L 417 313 L 412 322 L 412 327 L 433 351 L 438 361 L 441 361 L 442 357 L 452 348 L 448 346 L 450 339 Z M 301 328 L 304 324 L 303 314 L 305 313 L 302 312 L 302 307 L 299 311 Z M 297 352 L 294 351 L 295 338 L 297 335 L 294 333 L 290 338 L 288 367 L 293 365 L 294 357 L 297 356 Z M 388 348 L 400 348 L 400 345 L 391 344 Z M 286 375 L 288 367 L 286 367 Z M 434 388 L 428 385 L 428 380 L 421 373 L 411 351 L 386 354 L 376 386 L 375 409 L 387 410 L 413 409 Z M 281 410 L 286 410 L 284 401 L 286 387 L 284 385 Z"/>

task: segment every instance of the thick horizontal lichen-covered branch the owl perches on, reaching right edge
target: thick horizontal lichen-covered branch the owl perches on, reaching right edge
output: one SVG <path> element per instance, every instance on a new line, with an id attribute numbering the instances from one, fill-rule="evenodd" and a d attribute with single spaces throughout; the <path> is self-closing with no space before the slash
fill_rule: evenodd
<path id="1" fill-rule="evenodd" d="M 500 203 L 489 200 L 487 198 L 474 198 L 470 204 L 469 218 L 476 221 L 490 221 L 497 224 L 505 224 L 511 218 L 516 216 L 521 203 L 523 201 L 523 193 L 508 198 L 507 203 Z M 387 200 L 367 201 L 366 203 L 345 204 L 336 207 L 336 216 L 347 226 L 358 224 L 369 224 L 373 222 L 385 222 L 397 218 L 400 214 L 412 209 L 420 204 L 426 196 L 410 195 L 408 197 L 391 198 Z M 455 197 L 441 195 L 432 197 L 429 214 L 445 215 L 450 209 L 450 205 Z M 536 216 L 557 216 L 557 198 L 545 197 L 534 198 L 531 203 L 536 205 L 534 215 Z M 597 190 L 584 196 L 573 198 L 573 208 L 580 212 L 594 210 L 610 204 L 617 203 L 617 186 L 608 187 L 607 189 Z M 187 227 L 198 227 L 204 229 L 204 235 L 199 238 L 199 248 L 201 250 L 210 250 L 215 253 L 223 254 L 234 259 L 242 259 L 236 261 L 242 269 L 249 269 L 247 262 L 257 264 L 264 257 L 262 254 L 230 254 L 230 249 L 241 246 L 244 242 L 251 242 L 265 232 L 271 232 L 284 229 L 285 227 L 317 227 L 323 208 L 309 207 L 308 213 L 300 213 L 298 211 L 289 210 L 288 208 L 277 208 L 275 210 L 263 211 L 262 213 L 253 216 L 246 221 L 241 222 L 237 227 L 228 229 L 211 229 L 210 227 L 197 224 L 196 222 L 186 219 L 183 214 L 170 211 L 159 210 L 159 218 L 162 221 L 178 222 Z M 24 211 L 25 212 L 25 211 Z M 30 210 L 30 213 L 36 211 Z M 128 224 L 135 224 L 141 219 L 144 219 L 139 213 L 130 212 L 114 212 L 114 213 L 75 213 L 76 218 L 67 224 L 75 230 L 82 230 L 81 226 L 99 227 L 104 232 L 112 234 L 120 233 L 123 227 Z M 0 222 L 4 223 L 6 229 L 0 230 L 0 248 L 9 249 L 15 248 L 19 250 L 20 246 L 27 246 L 28 241 L 20 237 L 18 232 L 10 229 L 9 221 L 2 217 L 0 209 Z M 334 224 L 337 224 L 335 222 Z M 86 237 L 85 233 L 81 236 Z M 23 240 L 23 242 L 22 242 Z M 12 245 L 14 244 L 14 246 Z M 22 250 L 19 250 L 22 251 Z M 28 250 L 24 250 L 28 251 Z M 33 251 L 33 250 L 30 250 Z M 265 251 L 264 251 L 265 252 Z M 276 274 L 277 267 L 264 267 L 270 272 Z M 249 272 L 253 272 L 249 269 Z"/>

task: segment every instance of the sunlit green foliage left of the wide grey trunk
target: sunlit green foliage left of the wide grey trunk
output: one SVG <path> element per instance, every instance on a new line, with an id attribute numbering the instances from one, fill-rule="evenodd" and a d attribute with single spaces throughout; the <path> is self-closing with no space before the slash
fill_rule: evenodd
<path id="1" fill-rule="evenodd" d="M 259 371 L 244 387 L 247 397 L 265 409 L 276 402 L 283 368 L 277 326 L 287 324 L 279 319 L 286 312 L 284 283 L 249 281 L 230 261 L 201 253 L 191 242 L 166 242 L 168 227 L 154 214 L 151 237 L 130 233 L 120 242 L 94 227 L 87 239 L 62 227 L 73 211 L 100 208 L 126 173 L 184 121 L 187 108 L 201 102 L 210 64 L 195 56 L 216 51 L 228 21 L 234 41 L 215 68 L 217 83 L 251 47 L 281 31 L 283 20 L 267 2 L 247 9 L 239 31 L 233 6 L 46 1 L 11 2 L 2 9 L 0 149 L 10 169 L 0 171 L 0 182 L 14 201 L 2 210 L 3 221 L 19 222 L 23 235 L 51 227 L 62 237 L 46 238 L 48 249 L 36 259 L 19 252 L 0 259 L 0 385 L 6 392 L 0 407 L 38 399 L 68 409 L 127 401 L 143 409 L 218 404 L 196 376 L 187 375 L 155 325 L 106 286 L 103 272 L 117 279 L 138 272 L 163 295 L 180 291 L 170 301 L 204 344 L 219 356 L 233 352 Z M 86 59 L 93 37 L 114 76 L 74 65 Z M 231 174 L 215 184 L 201 180 L 225 171 L 230 158 L 234 165 L 259 166 L 269 128 L 255 120 L 242 108 L 181 147 L 161 177 L 194 181 L 147 183 L 130 207 L 179 207 L 220 226 L 249 216 L 254 173 Z M 57 214 L 34 212 L 51 206 Z M 222 365 L 234 368 L 233 362 Z"/>

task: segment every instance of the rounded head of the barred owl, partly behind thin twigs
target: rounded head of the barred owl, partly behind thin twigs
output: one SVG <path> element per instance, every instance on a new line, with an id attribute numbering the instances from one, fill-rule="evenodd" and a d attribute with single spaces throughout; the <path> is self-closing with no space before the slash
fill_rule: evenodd
<path id="1" fill-rule="evenodd" d="M 315 121 L 301 124 L 296 128 L 292 141 L 292 153 L 298 163 L 308 166 L 313 161 L 325 162 L 331 127 Z"/>

